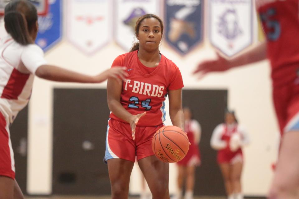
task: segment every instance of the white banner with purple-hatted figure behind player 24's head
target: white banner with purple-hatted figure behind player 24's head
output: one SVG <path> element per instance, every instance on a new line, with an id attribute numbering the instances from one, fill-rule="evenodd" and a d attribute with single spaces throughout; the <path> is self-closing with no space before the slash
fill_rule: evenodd
<path id="1" fill-rule="evenodd" d="M 135 24 L 145 14 L 159 16 L 159 0 L 116 0 L 115 3 L 115 41 L 125 51 L 129 51 L 134 42 Z"/>

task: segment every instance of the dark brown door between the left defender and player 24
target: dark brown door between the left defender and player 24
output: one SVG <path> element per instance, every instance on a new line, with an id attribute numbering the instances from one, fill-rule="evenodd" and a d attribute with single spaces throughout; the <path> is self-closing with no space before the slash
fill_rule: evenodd
<path id="1" fill-rule="evenodd" d="M 54 89 L 53 194 L 110 194 L 105 89 Z"/>

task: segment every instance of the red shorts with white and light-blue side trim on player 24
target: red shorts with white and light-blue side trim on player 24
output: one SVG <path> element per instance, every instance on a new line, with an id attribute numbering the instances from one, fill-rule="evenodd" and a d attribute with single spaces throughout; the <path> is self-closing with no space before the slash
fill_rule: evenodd
<path id="1" fill-rule="evenodd" d="M 137 160 L 140 160 L 154 155 L 152 138 L 154 133 L 163 126 L 163 124 L 159 126 L 137 126 L 135 140 L 133 140 L 130 124 L 109 119 L 104 161 L 119 158 L 135 162 L 136 156 Z"/>

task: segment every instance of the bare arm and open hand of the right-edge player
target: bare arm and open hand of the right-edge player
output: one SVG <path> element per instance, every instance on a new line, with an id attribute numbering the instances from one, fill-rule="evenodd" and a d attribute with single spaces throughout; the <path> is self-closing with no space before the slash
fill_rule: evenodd
<path id="1" fill-rule="evenodd" d="M 259 62 L 267 58 L 266 50 L 266 42 L 263 42 L 230 60 L 225 59 L 217 53 L 216 60 L 207 60 L 198 64 L 193 74 L 200 74 L 200 77 L 202 77 L 209 72 L 222 72 L 233 67 Z"/>

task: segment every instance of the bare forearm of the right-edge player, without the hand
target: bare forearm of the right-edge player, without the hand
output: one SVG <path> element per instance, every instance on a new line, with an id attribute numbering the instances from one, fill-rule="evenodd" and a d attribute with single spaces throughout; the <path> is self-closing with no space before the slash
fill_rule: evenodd
<path id="1" fill-rule="evenodd" d="M 258 46 L 250 49 L 249 51 L 240 54 L 239 56 L 230 59 L 230 68 L 244 66 L 250 63 L 259 62 L 267 58 L 267 46 L 266 42 L 259 44 Z"/>

